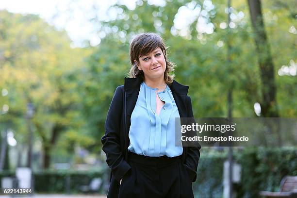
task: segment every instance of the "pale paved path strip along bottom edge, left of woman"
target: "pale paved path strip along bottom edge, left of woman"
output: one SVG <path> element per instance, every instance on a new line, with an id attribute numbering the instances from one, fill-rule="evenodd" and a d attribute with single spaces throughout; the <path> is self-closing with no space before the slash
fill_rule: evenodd
<path id="1" fill-rule="evenodd" d="M 0 198 L 12 198 L 8 195 L 0 195 Z M 106 198 L 106 195 L 38 195 L 34 194 L 33 196 L 14 196 L 14 198 Z"/>

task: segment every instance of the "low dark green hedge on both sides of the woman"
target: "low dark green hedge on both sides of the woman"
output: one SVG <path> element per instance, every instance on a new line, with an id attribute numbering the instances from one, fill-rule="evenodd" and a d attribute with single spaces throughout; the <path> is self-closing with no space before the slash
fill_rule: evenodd
<path id="1" fill-rule="evenodd" d="M 193 183 L 195 198 L 222 198 L 223 166 L 227 158 L 226 151 L 201 149 L 197 181 Z M 297 175 L 297 148 L 234 149 L 234 160 L 241 165 L 241 181 L 234 186 L 237 198 L 259 197 L 261 190 L 278 191 L 284 176 Z M 12 171 L 2 171 L 0 179 L 14 175 Z M 66 193 L 68 182 L 70 193 L 78 193 L 80 186 L 88 185 L 97 177 L 103 179 L 102 170 L 43 170 L 34 172 L 34 190 L 38 193 Z"/>

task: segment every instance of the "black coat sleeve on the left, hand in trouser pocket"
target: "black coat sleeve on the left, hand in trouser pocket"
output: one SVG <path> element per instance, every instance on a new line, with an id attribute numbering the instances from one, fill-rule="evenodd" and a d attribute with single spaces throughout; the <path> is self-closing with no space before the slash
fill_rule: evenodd
<path id="1" fill-rule="evenodd" d="M 106 162 L 117 181 L 120 181 L 126 172 L 131 169 L 131 166 L 124 160 L 120 147 L 122 110 L 123 91 L 118 86 L 107 113 L 105 134 L 101 138 L 102 150 L 106 153 Z"/>

